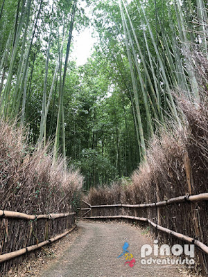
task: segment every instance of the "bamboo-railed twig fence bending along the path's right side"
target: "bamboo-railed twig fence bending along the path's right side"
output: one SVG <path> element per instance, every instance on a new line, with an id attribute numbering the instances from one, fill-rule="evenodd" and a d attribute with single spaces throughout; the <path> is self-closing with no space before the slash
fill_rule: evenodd
<path id="1" fill-rule="evenodd" d="M 177 240 L 183 240 L 189 244 L 195 244 L 198 260 L 203 269 L 202 272 L 205 276 L 208 276 L 207 208 L 208 193 L 200 193 L 150 204 L 94 206 L 88 204 L 90 216 L 83 218 L 92 220 L 138 220 L 139 222 L 148 223 L 153 232 L 159 237 L 161 236 L 164 242 L 175 244 Z"/>

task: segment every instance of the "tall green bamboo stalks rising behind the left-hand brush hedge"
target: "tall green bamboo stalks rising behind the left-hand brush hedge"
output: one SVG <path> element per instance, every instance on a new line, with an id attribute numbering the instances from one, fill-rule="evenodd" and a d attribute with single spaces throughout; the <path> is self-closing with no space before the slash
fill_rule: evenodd
<path id="1" fill-rule="evenodd" d="M 33 97 L 31 83 L 35 58 L 38 48 L 41 46 L 40 44 L 44 43 L 45 57 L 42 56 L 42 58 L 45 60 L 45 70 L 43 72 L 44 84 L 39 141 L 46 143 L 46 120 L 55 80 L 59 78 L 59 103 L 54 157 L 58 153 L 60 128 L 62 128 L 63 132 L 62 153 L 65 157 L 63 93 L 73 22 L 76 14 L 76 3 L 77 1 L 68 1 L 66 3 L 63 1 L 53 3 L 51 1 L 51 3 L 47 3 L 43 0 L 39 1 L 39 3 L 32 3 L 31 0 L 19 0 L 17 3 L 15 2 L 17 11 L 15 9 L 12 10 L 14 5 L 12 1 L 8 1 L 8 3 L 3 1 L 1 5 L 1 115 L 10 120 L 19 117 L 21 124 L 24 125 L 26 114 L 28 114 L 28 103 L 32 101 Z M 60 15 L 62 15 L 62 20 L 57 21 Z M 14 19 L 13 22 L 12 19 Z M 10 29 L 8 30 L 8 28 Z M 66 42 L 67 37 L 66 57 L 64 64 L 62 64 L 63 44 Z M 56 60 L 56 62 L 50 64 L 50 60 Z M 49 66 L 55 66 L 55 69 L 48 93 Z M 63 72 L 62 67 L 64 67 Z"/>

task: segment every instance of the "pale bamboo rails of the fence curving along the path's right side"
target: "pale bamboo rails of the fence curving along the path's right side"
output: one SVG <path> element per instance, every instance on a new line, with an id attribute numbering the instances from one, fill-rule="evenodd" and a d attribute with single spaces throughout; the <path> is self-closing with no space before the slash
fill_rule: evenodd
<path id="1" fill-rule="evenodd" d="M 160 217 L 160 207 L 166 207 L 168 205 L 173 204 L 182 204 L 182 203 L 190 203 L 191 202 L 206 202 L 208 201 L 208 193 L 201 193 L 199 195 L 184 195 L 180 197 L 171 198 L 162 202 L 155 202 L 151 204 L 137 204 L 137 205 L 131 205 L 131 204 L 112 204 L 112 205 L 90 205 L 89 203 L 85 202 L 87 204 L 88 208 L 81 208 L 81 212 L 85 211 L 87 209 L 87 212 L 85 212 L 81 217 L 84 219 L 93 219 L 93 220 L 101 220 L 101 219 L 130 219 L 130 220 L 138 220 L 141 222 L 148 222 L 150 226 L 153 226 L 155 229 L 162 231 L 164 233 L 167 233 L 169 235 L 174 236 L 177 239 L 183 240 L 185 242 L 188 242 L 189 244 L 195 244 L 202 253 L 204 253 L 206 256 L 202 256 L 200 253 L 198 254 L 199 260 L 203 269 L 203 274 L 208 274 L 208 246 L 200 240 L 196 238 L 191 238 L 189 235 L 178 233 L 176 231 L 173 231 L 171 229 L 168 229 L 164 226 L 161 226 L 159 223 L 161 220 Z M 125 211 L 128 208 L 128 211 Z M 155 211 L 155 221 L 150 220 L 147 217 L 138 217 L 137 213 L 138 208 L 144 209 L 144 208 L 156 208 Z M 132 211 L 129 211 L 130 209 L 133 209 L 135 216 L 132 215 L 126 215 L 126 213 L 132 214 Z M 87 213 L 90 213 L 90 216 L 85 216 Z M 104 215 L 101 215 L 103 214 Z M 114 213 L 117 213 L 116 215 Z M 99 215 L 100 214 L 100 215 Z M 107 215 L 106 215 L 107 214 Z"/>

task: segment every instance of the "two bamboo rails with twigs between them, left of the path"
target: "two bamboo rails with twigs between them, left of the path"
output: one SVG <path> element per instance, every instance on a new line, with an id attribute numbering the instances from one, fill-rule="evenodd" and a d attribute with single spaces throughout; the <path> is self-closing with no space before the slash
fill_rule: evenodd
<path id="1" fill-rule="evenodd" d="M 2 222 L 1 227 L 4 224 L 4 229 L 0 228 L 0 242 L 1 242 L 0 245 L 2 244 L 1 246 L 6 245 L 8 242 L 10 242 L 11 238 L 14 238 L 12 234 L 17 235 L 17 233 L 12 233 L 14 232 L 13 230 L 9 231 L 10 222 L 12 223 L 12 228 L 14 228 L 14 226 L 16 226 L 17 224 L 19 224 L 18 226 L 20 226 L 20 228 L 24 228 L 22 227 L 22 224 L 24 222 L 23 223 L 19 222 L 19 220 L 24 220 L 25 221 L 24 224 L 26 224 L 25 226 L 27 228 L 24 231 L 24 233 L 26 233 L 27 242 L 23 241 L 21 244 L 19 244 L 20 245 L 19 250 L 15 250 L 14 249 L 15 244 L 13 244 L 12 248 L 15 251 L 12 251 L 12 248 L 9 248 L 10 251 L 8 251 L 8 253 L 2 253 L 2 247 L 1 247 L 0 263 L 7 262 L 12 258 L 20 257 L 25 253 L 29 253 L 36 249 L 40 249 L 47 244 L 50 244 L 52 242 L 55 242 L 56 240 L 59 240 L 60 238 L 63 238 L 68 233 L 71 233 L 71 231 L 73 231 L 73 229 L 76 228 L 75 215 L 76 215 L 75 212 L 49 213 L 45 215 L 28 215 L 26 213 L 0 210 L 0 220 Z M 40 220 L 46 220 L 46 221 L 41 222 Z M 54 220 L 58 220 L 58 221 L 55 222 Z M 61 220 L 64 220 L 64 224 Z M 29 222 L 29 224 L 27 223 L 27 221 Z M 49 225 L 51 228 L 50 234 L 49 234 Z M 9 233 L 10 233 L 10 239 L 8 237 Z M 37 238 L 38 236 L 37 233 L 39 235 L 41 234 L 40 237 L 42 237 L 42 239 Z M 52 236 L 52 238 L 49 235 Z M 32 237 L 34 237 L 33 240 L 31 240 Z M 19 240 L 21 240 L 21 238 L 22 237 L 20 237 Z M 39 242 L 39 240 L 41 242 Z M 17 240 L 15 241 L 17 242 Z M 30 242 L 32 245 L 30 245 Z M 1 275 L 1 272 L 0 272 L 0 275 Z"/>

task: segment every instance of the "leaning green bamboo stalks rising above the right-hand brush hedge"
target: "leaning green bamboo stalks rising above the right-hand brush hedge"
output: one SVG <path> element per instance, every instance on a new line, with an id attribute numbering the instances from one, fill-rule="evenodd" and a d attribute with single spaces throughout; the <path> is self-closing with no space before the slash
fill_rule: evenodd
<path id="1" fill-rule="evenodd" d="M 189 21 L 190 15 L 193 14 L 191 0 L 186 3 L 180 0 L 170 3 L 155 0 L 154 7 L 150 1 L 144 3 L 134 0 L 126 3 L 125 0 L 119 0 L 119 7 L 137 111 L 139 141 L 145 159 L 144 137 L 153 135 L 156 123 L 165 125 L 164 118 L 171 116 L 181 124 L 173 90 L 180 89 L 189 99 L 200 100 L 198 82 L 193 71 L 191 43 L 193 44 L 196 37 L 196 41 L 198 39 L 201 44 L 198 47 L 207 53 L 207 10 L 204 1 L 196 1 L 195 24 L 200 30 L 198 38 L 198 33 L 195 35 L 193 32 L 196 26 Z M 153 18 L 149 16 L 153 8 L 156 26 L 153 26 Z M 164 12 L 167 13 L 166 18 Z M 141 118 L 141 105 L 145 108 L 146 120 Z M 144 133 L 145 121 L 148 136 Z"/>

